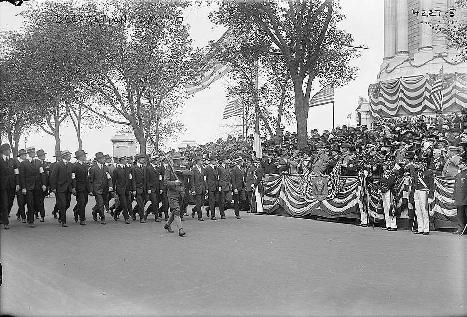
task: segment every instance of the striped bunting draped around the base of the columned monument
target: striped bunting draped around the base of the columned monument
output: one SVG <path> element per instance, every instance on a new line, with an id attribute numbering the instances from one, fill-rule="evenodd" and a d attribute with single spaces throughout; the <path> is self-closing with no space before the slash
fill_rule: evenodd
<path id="1" fill-rule="evenodd" d="M 436 75 L 397 78 L 372 84 L 368 88 L 372 114 L 382 118 L 405 115 L 430 115 L 441 109 L 430 95 Z M 443 76 L 443 111 L 467 108 L 466 74 Z"/>

